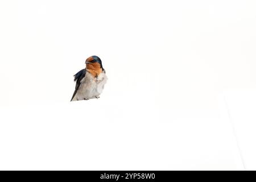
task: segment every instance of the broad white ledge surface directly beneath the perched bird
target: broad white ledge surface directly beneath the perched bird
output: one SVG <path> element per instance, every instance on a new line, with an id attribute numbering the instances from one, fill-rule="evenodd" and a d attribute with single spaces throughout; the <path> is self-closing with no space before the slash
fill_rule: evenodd
<path id="1" fill-rule="evenodd" d="M 223 107 L 205 118 L 102 97 L 1 109 L 0 169 L 243 169 Z"/>

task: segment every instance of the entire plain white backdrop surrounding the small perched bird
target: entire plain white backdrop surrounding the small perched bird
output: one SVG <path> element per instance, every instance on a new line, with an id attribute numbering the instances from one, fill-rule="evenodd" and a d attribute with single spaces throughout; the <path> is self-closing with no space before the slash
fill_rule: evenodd
<path id="1" fill-rule="evenodd" d="M 255 1 L 0 1 L 0 169 L 256 169 Z M 85 59 L 109 77 L 69 102 Z"/>

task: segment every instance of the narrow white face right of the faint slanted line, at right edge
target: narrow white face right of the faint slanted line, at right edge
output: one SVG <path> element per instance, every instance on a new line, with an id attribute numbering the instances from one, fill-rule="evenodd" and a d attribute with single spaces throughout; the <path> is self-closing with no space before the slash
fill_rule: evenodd
<path id="1" fill-rule="evenodd" d="M 256 90 L 226 90 L 225 98 L 233 121 L 246 170 L 256 170 Z"/>

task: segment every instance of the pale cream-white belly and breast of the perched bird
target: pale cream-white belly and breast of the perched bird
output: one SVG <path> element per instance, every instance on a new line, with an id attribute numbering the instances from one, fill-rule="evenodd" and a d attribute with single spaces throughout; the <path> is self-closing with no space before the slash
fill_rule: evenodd
<path id="1" fill-rule="evenodd" d="M 104 72 L 98 75 L 97 78 L 93 78 L 90 73 L 86 73 L 73 100 L 79 101 L 100 96 L 107 80 L 108 78 Z"/>

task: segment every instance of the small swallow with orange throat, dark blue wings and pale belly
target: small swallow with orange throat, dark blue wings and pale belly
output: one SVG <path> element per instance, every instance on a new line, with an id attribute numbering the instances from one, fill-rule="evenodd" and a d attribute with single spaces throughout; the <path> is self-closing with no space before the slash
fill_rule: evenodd
<path id="1" fill-rule="evenodd" d="M 85 61 L 86 67 L 74 75 L 76 81 L 75 92 L 71 101 L 100 98 L 104 85 L 108 80 L 106 71 L 98 56 L 90 56 Z"/>

